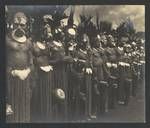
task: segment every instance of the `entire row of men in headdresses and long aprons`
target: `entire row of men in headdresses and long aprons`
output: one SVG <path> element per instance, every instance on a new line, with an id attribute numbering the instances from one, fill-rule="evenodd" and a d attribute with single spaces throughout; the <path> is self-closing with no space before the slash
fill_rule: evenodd
<path id="1" fill-rule="evenodd" d="M 33 40 L 26 15 L 14 15 L 6 35 L 7 121 L 89 120 L 127 105 L 144 76 L 144 42 L 116 43 L 105 33 L 91 40 L 74 26 L 52 30 L 50 18 L 43 16 L 43 34 Z"/>

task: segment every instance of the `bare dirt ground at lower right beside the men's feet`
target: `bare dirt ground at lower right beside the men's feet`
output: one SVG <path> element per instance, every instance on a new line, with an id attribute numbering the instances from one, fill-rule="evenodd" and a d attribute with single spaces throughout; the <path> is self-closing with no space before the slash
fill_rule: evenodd
<path id="1" fill-rule="evenodd" d="M 130 97 L 128 106 L 117 105 L 115 109 L 103 114 L 96 122 L 145 122 L 145 86 L 138 85 L 136 97 Z"/>

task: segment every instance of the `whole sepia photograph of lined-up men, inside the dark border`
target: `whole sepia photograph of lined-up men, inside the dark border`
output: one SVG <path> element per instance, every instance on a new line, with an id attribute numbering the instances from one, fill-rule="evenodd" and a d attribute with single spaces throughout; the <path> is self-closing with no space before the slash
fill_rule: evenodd
<path id="1" fill-rule="evenodd" d="M 6 5 L 6 123 L 144 123 L 144 5 Z"/>

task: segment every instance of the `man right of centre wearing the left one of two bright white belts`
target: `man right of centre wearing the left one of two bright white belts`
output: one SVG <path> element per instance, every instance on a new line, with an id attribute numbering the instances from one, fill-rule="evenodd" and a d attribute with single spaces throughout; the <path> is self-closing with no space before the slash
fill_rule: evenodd
<path id="1" fill-rule="evenodd" d="M 112 35 L 107 36 L 106 56 L 107 56 L 107 68 L 111 74 L 111 78 L 108 80 L 109 89 L 108 89 L 108 108 L 114 108 L 117 101 L 117 88 L 118 88 L 118 65 L 117 65 L 117 55 L 116 55 L 116 42 Z"/>

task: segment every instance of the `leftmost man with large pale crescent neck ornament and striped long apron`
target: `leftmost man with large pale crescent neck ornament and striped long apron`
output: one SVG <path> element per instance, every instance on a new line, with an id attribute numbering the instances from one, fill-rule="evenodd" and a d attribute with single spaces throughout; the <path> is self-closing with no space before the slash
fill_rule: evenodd
<path id="1" fill-rule="evenodd" d="M 23 12 L 13 17 L 13 28 L 6 35 L 7 102 L 12 109 L 8 122 L 30 122 L 31 39 L 27 36 L 28 18 Z"/>

